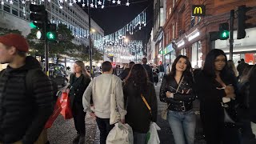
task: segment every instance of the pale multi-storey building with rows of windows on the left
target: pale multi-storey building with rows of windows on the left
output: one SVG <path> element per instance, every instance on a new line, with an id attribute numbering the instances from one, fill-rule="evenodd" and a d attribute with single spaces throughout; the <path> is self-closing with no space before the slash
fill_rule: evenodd
<path id="1" fill-rule="evenodd" d="M 21 0 L 13 0 L 13 4 L 10 2 L 4 2 L 4 5 L 0 5 L 0 26 L 11 30 L 20 30 L 22 34 L 26 36 L 30 34 L 30 4 L 26 2 L 23 4 Z M 38 3 L 39 4 L 39 3 Z M 48 12 L 48 18 L 50 22 L 64 23 L 74 34 L 74 43 L 76 44 L 89 44 L 89 18 L 88 15 L 80 6 L 73 4 L 70 6 L 67 2 L 63 2 L 62 5 L 58 0 L 46 2 L 46 10 Z M 92 38 L 100 38 L 104 36 L 104 31 L 94 20 L 91 20 L 91 28 L 95 30 L 92 34 Z M 1 69 L 1 66 L 0 66 Z"/>

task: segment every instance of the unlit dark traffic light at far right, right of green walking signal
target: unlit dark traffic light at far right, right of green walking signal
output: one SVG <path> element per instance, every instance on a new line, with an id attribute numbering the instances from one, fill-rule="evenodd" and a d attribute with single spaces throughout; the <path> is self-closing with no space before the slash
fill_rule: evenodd
<path id="1" fill-rule="evenodd" d="M 246 20 L 250 19 L 250 16 L 246 16 L 246 12 L 252 9 L 251 7 L 246 7 L 245 5 L 238 6 L 238 39 L 246 37 Z"/>

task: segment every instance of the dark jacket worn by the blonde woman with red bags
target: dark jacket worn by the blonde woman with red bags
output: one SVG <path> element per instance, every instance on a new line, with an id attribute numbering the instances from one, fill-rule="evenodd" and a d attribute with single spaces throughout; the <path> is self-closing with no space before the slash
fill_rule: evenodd
<path id="1" fill-rule="evenodd" d="M 70 74 L 70 104 L 71 107 L 74 106 L 74 103 L 82 106 L 82 95 L 86 91 L 87 86 L 90 83 L 90 78 L 81 74 L 79 78 L 75 78 L 75 74 Z"/>

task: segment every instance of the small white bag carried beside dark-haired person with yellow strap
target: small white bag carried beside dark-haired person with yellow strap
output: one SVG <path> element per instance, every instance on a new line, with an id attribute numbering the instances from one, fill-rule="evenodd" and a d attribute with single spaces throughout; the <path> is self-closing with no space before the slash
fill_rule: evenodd
<path id="1" fill-rule="evenodd" d="M 151 122 L 150 130 L 146 134 L 147 144 L 159 144 L 160 143 L 160 139 L 158 137 L 157 130 L 161 130 L 161 128 L 155 122 Z"/>

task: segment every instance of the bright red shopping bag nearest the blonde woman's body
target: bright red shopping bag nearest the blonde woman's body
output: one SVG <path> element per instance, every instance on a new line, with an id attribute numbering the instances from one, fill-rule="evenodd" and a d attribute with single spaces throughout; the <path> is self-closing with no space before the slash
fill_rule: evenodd
<path id="1" fill-rule="evenodd" d="M 70 119 L 73 118 L 72 116 L 72 111 L 71 111 L 71 106 L 70 106 L 70 98 L 66 92 L 62 93 L 61 97 L 61 114 L 65 119 Z"/>

